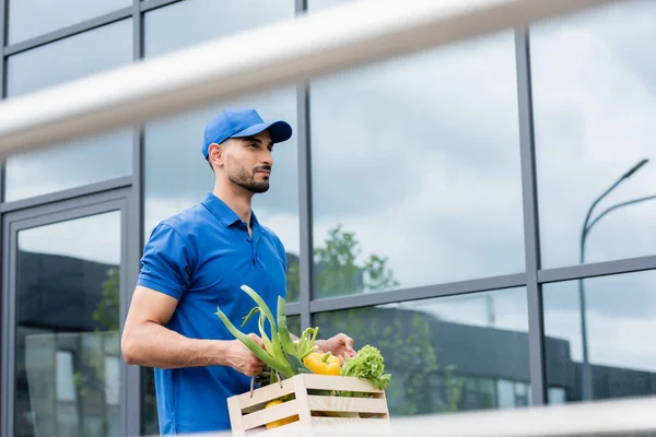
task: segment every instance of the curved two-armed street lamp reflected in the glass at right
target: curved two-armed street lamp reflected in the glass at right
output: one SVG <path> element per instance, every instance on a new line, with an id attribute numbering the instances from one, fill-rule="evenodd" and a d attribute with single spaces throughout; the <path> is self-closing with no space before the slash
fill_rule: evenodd
<path id="1" fill-rule="evenodd" d="M 585 222 L 583 223 L 583 228 L 581 229 L 579 262 L 582 264 L 585 262 L 586 237 L 588 236 L 593 226 L 597 222 L 599 222 L 599 220 L 604 215 L 608 214 L 609 212 L 611 212 L 613 210 L 617 210 L 618 208 L 626 206 L 626 205 L 639 203 L 639 202 L 644 202 L 646 200 L 656 199 L 656 194 L 655 194 L 655 196 L 648 196 L 648 197 L 639 198 L 639 199 L 630 200 L 626 202 L 618 203 L 613 206 L 606 209 L 601 214 L 599 214 L 597 216 L 597 218 L 595 218 L 591 223 L 588 224 L 590 216 L 593 214 L 593 210 L 601 201 L 601 199 L 604 199 L 606 196 L 608 196 L 608 193 L 611 192 L 613 189 L 616 189 L 616 187 L 619 186 L 621 182 L 623 182 L 624 180 L 626 180 L 631 176 L 633 176 L 635 174 L 635 172 L 637 172 L 640 168 L 642 168 L 642 166 L 644 166 L 648 162 L 649 162 L 649 160 L 645 158 L 645 160 L 642 160 L 641 162 L 639 162 L 637 164 L 635 164 L 633 167 L 631 167 L 613 185 L 611 185 L 606 191 L 604 191 L 604 193 L 601 193 L 601 196 L 599 196 L 593 202 L 590 208 L 588 209 L 587 215 L 585 216 Z M 589 400 L 593 398 L 593 383 L 591 383 L 590 364 L 589 364 L 589 358 L 588 358 L 587 322 L 586 322 L 586 318 L 585 318 L 585 294 L 584 294 L 584 288 L 583 288 L 583 279 L 578 280 L 578 303 L 579 303 L 579 307 L 581 307 L 581 335 L 583 336 L 583 367 L 582 367 L 582 391 L 583 391 L 583 393 L 582 393 L 582 398 L 585 401 L 585 400 Z"/>

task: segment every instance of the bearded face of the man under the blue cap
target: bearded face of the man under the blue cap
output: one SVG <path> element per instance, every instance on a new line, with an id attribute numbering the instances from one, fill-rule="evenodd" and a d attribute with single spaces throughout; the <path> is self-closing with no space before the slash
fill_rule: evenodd
<path id="1" fill-rule="evenodd" d="M 231 139 L 224 150 L 229 180 L 254 193 L 266 192 L 273 166 L 272 149 L 267 131 L 255 137 Z"/>

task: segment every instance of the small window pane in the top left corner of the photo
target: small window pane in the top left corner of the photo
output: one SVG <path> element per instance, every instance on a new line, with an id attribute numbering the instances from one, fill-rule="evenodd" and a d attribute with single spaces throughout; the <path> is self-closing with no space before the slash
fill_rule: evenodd
<path id="1" fill-rule="evenodd" d="M 132 0 L 9 0 L 9 44 L 132 5 Z"/>

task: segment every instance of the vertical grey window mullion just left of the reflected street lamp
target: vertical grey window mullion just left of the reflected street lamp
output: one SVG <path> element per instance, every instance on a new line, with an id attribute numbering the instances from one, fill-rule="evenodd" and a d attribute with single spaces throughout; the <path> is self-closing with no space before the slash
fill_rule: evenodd
<path id="1" fill-rule="evenodd" d="M 538 284 L 540 268 L 540 229 L 536 186 L 535 135 L 530 82 L 530 46 L 528 28 L 515 29 L 515 60 L 519 108 L 519 144 L 522 157 L 522 192 L 524 204 L 524 251 L 528 303 L 528 350 L 531 399 L 534 405 L 547 402 L 544 371 L 544 320 L 542 290 Z"/>

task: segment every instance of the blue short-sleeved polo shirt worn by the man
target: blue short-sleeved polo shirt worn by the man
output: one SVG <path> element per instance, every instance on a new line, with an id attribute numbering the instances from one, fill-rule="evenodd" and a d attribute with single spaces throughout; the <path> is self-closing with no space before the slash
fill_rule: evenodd
<path id="1" fill-rule="evenodd" d="M 152 232 L 138 284 L 178 299 L 166 328 L 191 339 L 234 340 L 215 315 L 220 307 L 242 332 L 259 335 L 256 306 L 241 290 L 255 290 L 273 314 L 286 296 L 286 256 L 280 239 L 255 214 L 246 223 L 213 193 L 164 220 Z M 267 326 L 267 328 L 269 328 Z M 250 389 L 250 378 L 231 367 L 155 369 L 161 434 L 230 429 L 226 399 Z"/>

